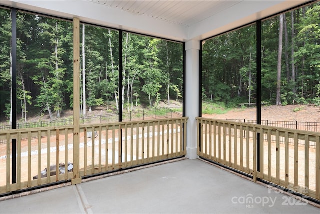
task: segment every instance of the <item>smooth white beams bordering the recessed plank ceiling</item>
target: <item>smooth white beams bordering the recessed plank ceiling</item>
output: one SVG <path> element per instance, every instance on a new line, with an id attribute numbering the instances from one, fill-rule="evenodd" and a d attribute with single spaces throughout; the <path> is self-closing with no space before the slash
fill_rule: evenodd
<path id="1" fill-rule="evenodd" d="M 188 41 L 202 40 L 309 1 L 243 0 L 234 2 L 235 3 L 230 7 L 212 14 L 212 16 L 198 21 L 189 27 L 156 19 L 151 16 L 143 16 L 104 4 L 97 4 L 91 0 L 1 0 L 0 3 L 1 5 L 63 17 L 70 20 L 77 17 L 80 18 L 82 22 L 176 41 Z"/>

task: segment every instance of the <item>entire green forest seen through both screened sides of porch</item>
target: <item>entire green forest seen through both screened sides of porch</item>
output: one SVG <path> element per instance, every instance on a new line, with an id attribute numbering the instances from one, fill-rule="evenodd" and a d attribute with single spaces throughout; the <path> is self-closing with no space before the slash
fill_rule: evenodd
<path id="1" fill-rule="evenodd" d="M 10 124 L 11 19 L 11 10 L 1 8 L 0 120 Z M 73 105 L 72 22 L 18 11 L 16 23 L 18 119 L 27 121 L 31 112 L 59 118 Z M 319 106 L 320 2 L 261 24 L 262 104 Z M 84 23 L 80 32 L 81 115 L 97 106 L 111 113 L 182 101 L 182 43 Z M 252 24 L 202 42 L 203 102 L 256 102 L 256 40 Z"/>

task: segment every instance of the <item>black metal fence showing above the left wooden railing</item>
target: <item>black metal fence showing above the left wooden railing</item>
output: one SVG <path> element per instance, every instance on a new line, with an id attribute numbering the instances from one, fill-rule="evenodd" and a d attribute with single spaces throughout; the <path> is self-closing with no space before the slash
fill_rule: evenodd
<path id="1" fill-rule="evenodd" d="M 123 112 L 122 121 L 137 121 L 144 119 L 156 119 L 156 118 L 172 118 L 182 117 L 182 114 L 174 111 L 170 108 L 154 108 L 154 109 L 143 109 L 138 111 Z M 96 124 L 96 123 L 112 123 L 118 122 L 119 117 L 117 113 L 109 113 L 103 115 L 92 115 L 80 117 L 80 124 Z M 38 121 L 38 122 L 26 122 L 17 123 L 16 128 L 36 128 L 36 127 L 48 127 L 48 126 L 66 126 L 72 125 L 73 118 L 63 118 L 49 121 Z M 11 129 L 11 125 L 1 125 L 0 130 Z"/>

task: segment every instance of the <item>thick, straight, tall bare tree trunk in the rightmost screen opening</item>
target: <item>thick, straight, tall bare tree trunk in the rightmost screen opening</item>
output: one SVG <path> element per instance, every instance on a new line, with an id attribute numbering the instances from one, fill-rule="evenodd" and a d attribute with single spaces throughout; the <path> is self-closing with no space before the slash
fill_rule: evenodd
<path id="1" fill-rule="evenodd" d="M 283 38 L 283 14 L 279 20 L 279 48 L 278 48 L 278 66 L 276 81 L 276 105 L 281 105 L 281 61 L 282 61 L 282 38 Z"/>

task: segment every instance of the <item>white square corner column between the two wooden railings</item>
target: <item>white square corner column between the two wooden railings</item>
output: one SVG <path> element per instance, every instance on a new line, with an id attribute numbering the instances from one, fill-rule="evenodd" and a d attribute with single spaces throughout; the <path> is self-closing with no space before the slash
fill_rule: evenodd
<path id="1" fill-rule="evenodd" d="M 185 116 L 189 117 L 186 126 L 186 157 L 189 159 L 198 158 L 195 117 L 199 112 L 199 49 L 198 40 L 185 43 Z"/>

